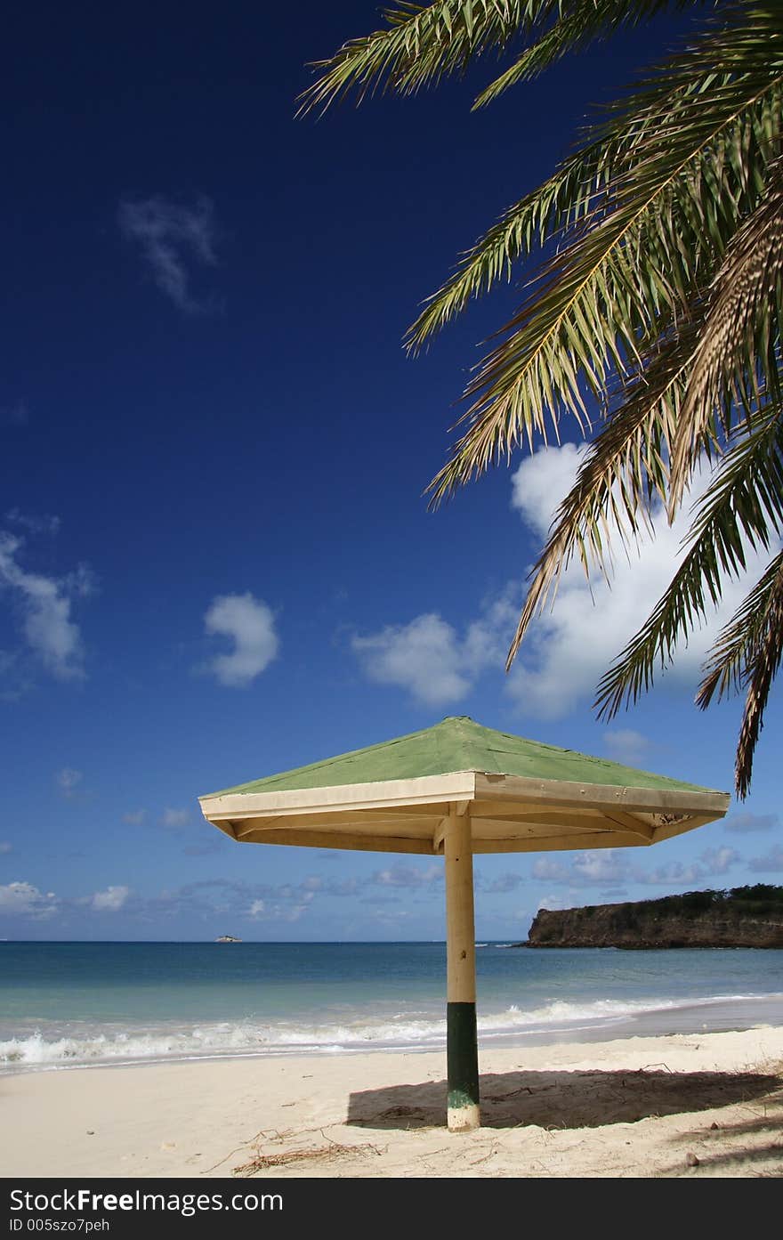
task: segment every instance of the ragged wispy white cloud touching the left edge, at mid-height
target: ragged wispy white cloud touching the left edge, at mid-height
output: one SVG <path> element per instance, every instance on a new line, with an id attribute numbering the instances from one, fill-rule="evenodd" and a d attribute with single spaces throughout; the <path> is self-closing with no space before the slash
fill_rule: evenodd
<path id="1" fill-rule="evenodd" d="M 0 532 L 0 589 L 10 591 L 28 649 L 57 680 L 84 676 L 82 636 L 71 610 L 74 598 L 87 598 L 94 577 L 87 565 L 63 578 L 28 573 L 19 563 L 21 538 Z"/>

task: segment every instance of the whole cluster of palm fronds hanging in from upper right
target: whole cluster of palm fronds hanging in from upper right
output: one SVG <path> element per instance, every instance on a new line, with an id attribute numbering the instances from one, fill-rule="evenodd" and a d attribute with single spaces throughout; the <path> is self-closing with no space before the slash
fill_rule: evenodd
<path id="1" fill-rule="evenodd" d="M 301 110 L 348 92 L 411 93 L 489 51 L 513 60 L 476 107 L 566 52 L 689 0 L 436 0 L 395 4 L 387 27 L 320 63 Z M 701 7 L 693 0 L 694 7 Z M 608 572 L 654 496 L 670 520 L 717 461 L 685 556 L 598 687 L 613 714 L 701 624 L 747 548 L 783 528 L 783 6 L 710 6 L 701 32 L 611 108 L 581 146 L 462 257 L 406 336 L 410 352 L 535 252 L 549 257 L 466 388 L 461 436 L 431 503 L 559 433 L 603 423 L 531 574 L 509 663 L 574 556 Z M 746 689 L 740 795 L 783 647 L 783 558 L 751 590 L 706 666 L 699 704 Z"/>

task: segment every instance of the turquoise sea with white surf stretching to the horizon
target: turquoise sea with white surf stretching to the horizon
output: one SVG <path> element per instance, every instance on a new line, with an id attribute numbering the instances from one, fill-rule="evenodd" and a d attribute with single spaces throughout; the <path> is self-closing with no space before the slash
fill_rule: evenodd
<path id="1" fill-rule="evenodd" d="M 783 1024 L 783 951 L 477 944 L 481 1044 Z M 0 1073 L 446 1044 L 442 942 L 0 942 Z"/>

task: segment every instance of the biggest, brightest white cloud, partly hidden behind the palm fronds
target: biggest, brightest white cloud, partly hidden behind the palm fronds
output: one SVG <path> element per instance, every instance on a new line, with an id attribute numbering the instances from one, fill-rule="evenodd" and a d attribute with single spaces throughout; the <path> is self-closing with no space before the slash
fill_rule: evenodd
<path id="1" fill-rule="evenodd" d="M 525 459 L 513 477 L 513 507 L 544 539 L 560 501 L 572 484 L 587 446 L 543 448 Z M 562 574 L 551 610 L 539 616 L 528 631 L 509 677 L 509 692 L 525 714 L 559 718 L 577 701 L 593 696 L 602 673 L 613 663 L 629 639 L 647 620 L 683 558 L 681 542 L 689 528 L 689 506 L 707 486 L 704 469 L 694 481 L 689 502 L 673 526 L 660 503 L 652 510 L 653 536 L 642 533 L 638 547 L 626 556 L 619 533 L 610 536 L 615 548 L 611 583 L 596 572 L 590 583 L 581 564 L 574 562 Z M 695 684 L 704 657 L 719 629 L 730 619 L 772 554 L 747 551 L 747 573 L 726 580 L 717 610 L 696 629 L 678 651 L 668 678 Z M 670 680 L 669 680 L 670 682 Z"/>

